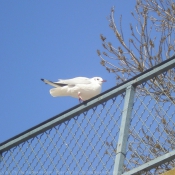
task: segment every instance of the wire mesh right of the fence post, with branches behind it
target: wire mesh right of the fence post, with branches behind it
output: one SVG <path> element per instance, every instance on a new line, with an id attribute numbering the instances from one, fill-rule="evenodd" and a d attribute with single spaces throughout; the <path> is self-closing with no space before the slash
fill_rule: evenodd
<path id="1" fill-rule="evenodd" d="M 171 73 L 172 71 L 174 69 Z M 175 82 L 172 81 L 173 79 L 164 72 L 136 89 L 125 171 L 175 149 Z M 175 167 L 175 161 L 142 174 L 155 175 L 173 167 Z"/>

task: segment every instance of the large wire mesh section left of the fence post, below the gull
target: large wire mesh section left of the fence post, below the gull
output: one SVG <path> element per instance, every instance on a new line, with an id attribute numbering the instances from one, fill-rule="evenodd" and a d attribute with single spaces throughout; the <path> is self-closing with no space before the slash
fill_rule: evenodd
<path id="1" fill-rule="evenodd" d="M 111 174 L 124 94 L 6 151 L 1 174 Z"/>

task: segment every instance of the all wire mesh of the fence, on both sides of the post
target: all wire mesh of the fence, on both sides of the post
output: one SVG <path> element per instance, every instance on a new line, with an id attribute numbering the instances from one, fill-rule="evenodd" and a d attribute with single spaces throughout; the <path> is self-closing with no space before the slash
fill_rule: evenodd
<path id="1" fill-rule="evenodd" d="M 175 150 L 174 69 L 138 85 L 124 172 Z M 2 153 L 0 174 L 113 174 L 125 93 Z M 141 174 L 175 167 L 160 164 Z"/>

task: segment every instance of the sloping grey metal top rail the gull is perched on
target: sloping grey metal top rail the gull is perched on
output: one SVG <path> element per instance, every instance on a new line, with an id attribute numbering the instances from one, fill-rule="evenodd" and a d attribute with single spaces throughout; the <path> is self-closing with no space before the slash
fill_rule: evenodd
<path id="1" fill-rule="evenodd" d="M 43 133 L 44 131 L 58 125 L 59 123 L 63 123 L 66 120 L 71 119 L 72 117 L 81 114 L 82 112 L 85 112 L 99 104 L 102 104 L 103 102 L 123 93 L 125 89 L 130 86 L 137 86 L 152 77 L 159 75 L 160 73 L 169 70 L 171 68 L 175 67 L 175 55 L 171 58 L 161 62 L 160 64 L 144 71 L 141 74 L 138 74 L 137 76 L 99 94 L 96 97 L 93 97 L 90 100 L 87 100 L 81 104 L 78 104 L 74 106 L 73 108 L 70 108 L 2 143 L 0 143 L 0 153 L 9 150 L 12 147 L 15 147 L 19 145 L 20 143 L 33 138 L 37 136 L 38 134 Z"/>

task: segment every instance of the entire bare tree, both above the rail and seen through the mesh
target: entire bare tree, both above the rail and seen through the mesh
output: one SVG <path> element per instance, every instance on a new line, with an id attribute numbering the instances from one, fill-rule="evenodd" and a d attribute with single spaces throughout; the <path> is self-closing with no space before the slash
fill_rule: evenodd
<path id="1" fill-rule="evenodd" d="M 113 46 L 108 42 L 106 37 L 100 35 L 102 45 L 105 51 L 97 50 L 101 58 L 101 65 L 110 73 L 116 75 L 117 84 L 126 81 L 127 79 L 144 72 L 145 70 L 161 63 L 175 54 L 175 2 L 173 0 L 137 0 L 135 12 L 132 16 L 135 19 L 136 25 L 131 23 L 130 38 L 125 38 L 122 30 L 122 16 L 119 20 L 119 25 L 114 20 L 114 7 L 111 9 L 109 17 L 109 26 L 113 30 L 116 40 L 119 43 L 118 47 Z M 171 69 L 164 74 L 161 74 L 149 80 L 146 85 L 137 87 L 137 91 L 141 96 L 152 96 L 160 103 L 175 104 L 174 82 L 175 71 Z M 167 146 L 169 149 L 175 149 L 174 126 L 170 126 L 167 119 L 161 115 L 160 111 L 155 108 L 157 116 L 160 118 L 160 125 L 164 127 L 164 132 L 167 135 Z M 157 128 L 157 131 L 159 128 Z M 137 135 L 130 131 L 133 137 Z M 144 139 L 141 143 L 147 144 L 149 151 L 158 157 L 162 153 L 168 152 L 166 146 L 160 145 L 151 135 L 142 128 Z M 115 146 L 112 143 L 106 142 L 109 149 L 106 151 L 115 153 Z M 132 145 L 129 145 L 129 150 L 132 150 Z M 142 149 L 140 149 L 142 150 Z M 150 156 L 144 156 L 144 150 L 133 152 L 133 160 L 139 164 L 137 159 L 143 162 L 148 162 L 152 159 Z M 164 164 L 155 172 L 160 173 L 175 167 L 175 163 Z M 128 167 L 125 165 L 125 170 Z M 149 174 L 149 172 L 147 172 Z"/>

